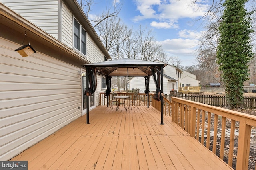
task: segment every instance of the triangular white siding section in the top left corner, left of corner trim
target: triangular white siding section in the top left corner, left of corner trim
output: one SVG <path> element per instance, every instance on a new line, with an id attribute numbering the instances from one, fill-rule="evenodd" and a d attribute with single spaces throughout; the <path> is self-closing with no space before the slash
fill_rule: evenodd
<path id="1" fill-rule="evenodd" d="M 58 39 L 58 0 L 0 0 L 3 4 Z"/>

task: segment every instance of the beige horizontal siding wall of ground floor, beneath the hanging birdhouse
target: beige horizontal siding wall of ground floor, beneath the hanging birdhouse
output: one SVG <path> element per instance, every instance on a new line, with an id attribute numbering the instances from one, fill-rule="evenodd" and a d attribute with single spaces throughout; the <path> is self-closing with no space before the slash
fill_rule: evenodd
<path id="1" fill-rule="evenodd" d="M 0 160 L 8 160 L 82 115 L 75 66 L 42 53 L 21 57 L 0 38 Z"/>

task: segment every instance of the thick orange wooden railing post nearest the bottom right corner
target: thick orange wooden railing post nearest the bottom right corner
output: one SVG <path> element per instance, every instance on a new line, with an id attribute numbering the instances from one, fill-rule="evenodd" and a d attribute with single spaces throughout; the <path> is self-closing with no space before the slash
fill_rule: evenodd
<path id="1" fill-rule="evenodd" d="M 237 170 L 247 170 L 250 152 L 251 126 L 246 125 L 246 118 L 241 117 L 239 122 L 238 150 L 237 150 Z"/>

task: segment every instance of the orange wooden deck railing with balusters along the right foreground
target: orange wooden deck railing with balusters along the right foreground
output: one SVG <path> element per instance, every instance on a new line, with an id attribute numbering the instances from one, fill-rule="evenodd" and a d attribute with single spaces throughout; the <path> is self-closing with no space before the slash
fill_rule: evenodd
<path id="1" fill-rule="evenodd" d="M 251 129 L 256 127 L 256 116 L 172 97 L 172 121 L 222 160 L 228 160 L 229 166 L 232 167 L 236 156 L 233 167 L 248 169 Z"/>

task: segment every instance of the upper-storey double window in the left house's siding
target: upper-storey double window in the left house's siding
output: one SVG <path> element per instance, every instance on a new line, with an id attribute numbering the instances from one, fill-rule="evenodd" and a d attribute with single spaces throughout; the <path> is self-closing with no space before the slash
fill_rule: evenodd
<path id="1" fill-rule="evenodd" d="M 78 23 L 78 21 L 74 18 L 74 28 L 73 28 L 73 39 L 74 39 L 74 47 L 86 55 L 86 31 L 83 27 Z"/>

